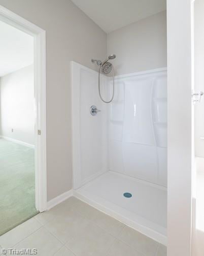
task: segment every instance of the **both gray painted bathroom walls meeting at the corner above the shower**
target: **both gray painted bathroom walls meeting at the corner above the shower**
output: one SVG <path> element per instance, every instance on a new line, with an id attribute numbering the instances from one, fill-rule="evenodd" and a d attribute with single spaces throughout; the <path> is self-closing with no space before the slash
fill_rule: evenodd
<path id="1" fill-rule="evenodd" d="M 93 68 L 105 59 L 107 35 L 70 0 L 0 0 L 46 30 L 48 200 L 72 188 L 70 61 Z M 166 67 L 166 13 L 108 35 L 108 52 L 118 74 Z"/>

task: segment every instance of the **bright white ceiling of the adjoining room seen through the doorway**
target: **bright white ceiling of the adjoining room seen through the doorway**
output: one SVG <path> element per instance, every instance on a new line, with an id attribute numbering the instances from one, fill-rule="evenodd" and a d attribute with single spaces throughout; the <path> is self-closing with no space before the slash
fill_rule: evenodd
<path id="1" fill-rule="evenodd" d="M 33 37 L 0 21 L 0 77 L 33 63 Z"/>

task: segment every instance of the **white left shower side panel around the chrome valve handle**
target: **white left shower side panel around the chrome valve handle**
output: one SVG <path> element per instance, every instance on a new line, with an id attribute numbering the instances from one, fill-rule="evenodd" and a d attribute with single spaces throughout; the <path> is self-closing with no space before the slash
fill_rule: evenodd
<path id="1" fill-rule="evenodd" d="M 107 106 L 98 96 L 98 74 L 76 62 L 73 67 L 73 170 L 74 188 L 108 171 Z M 101 78 L 105 88 L 105 78 Z M 95 116 L 90 107 L 101 110 Z"/>

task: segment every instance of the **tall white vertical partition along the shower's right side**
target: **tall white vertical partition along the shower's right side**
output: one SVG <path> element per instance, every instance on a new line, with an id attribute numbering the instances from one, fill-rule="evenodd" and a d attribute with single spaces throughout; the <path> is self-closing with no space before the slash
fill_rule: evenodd
<path id="1" fill-rule="evenodd" d="M 167 0 L 167 256 L 191 256 L 193 3 Z"/>

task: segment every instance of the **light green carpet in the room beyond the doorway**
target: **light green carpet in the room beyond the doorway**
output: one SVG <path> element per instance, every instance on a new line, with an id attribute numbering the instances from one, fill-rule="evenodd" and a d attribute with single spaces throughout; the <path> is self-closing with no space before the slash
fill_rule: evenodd
<path id="1" fill-rule="evenodd" d="M 0 235 L 36 215 L 34 149 L 0 139 Z"/>

